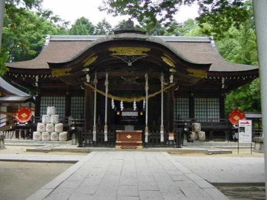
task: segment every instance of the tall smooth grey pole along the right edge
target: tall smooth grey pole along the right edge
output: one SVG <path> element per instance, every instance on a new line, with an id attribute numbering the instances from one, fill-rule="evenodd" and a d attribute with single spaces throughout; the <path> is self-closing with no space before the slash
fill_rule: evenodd
<path id="1" fill-rule="evenodd" d="M 260 77 L 260 94 L 261 94 L 261 112 L 262 112 L 262 132 L 264 147 L 264 167 L 265 167 L 265 191 L 267 191 L 267 1 L 253 0 L 255 28 L 258 46 L 259 58 L 259 77 Z"/>

